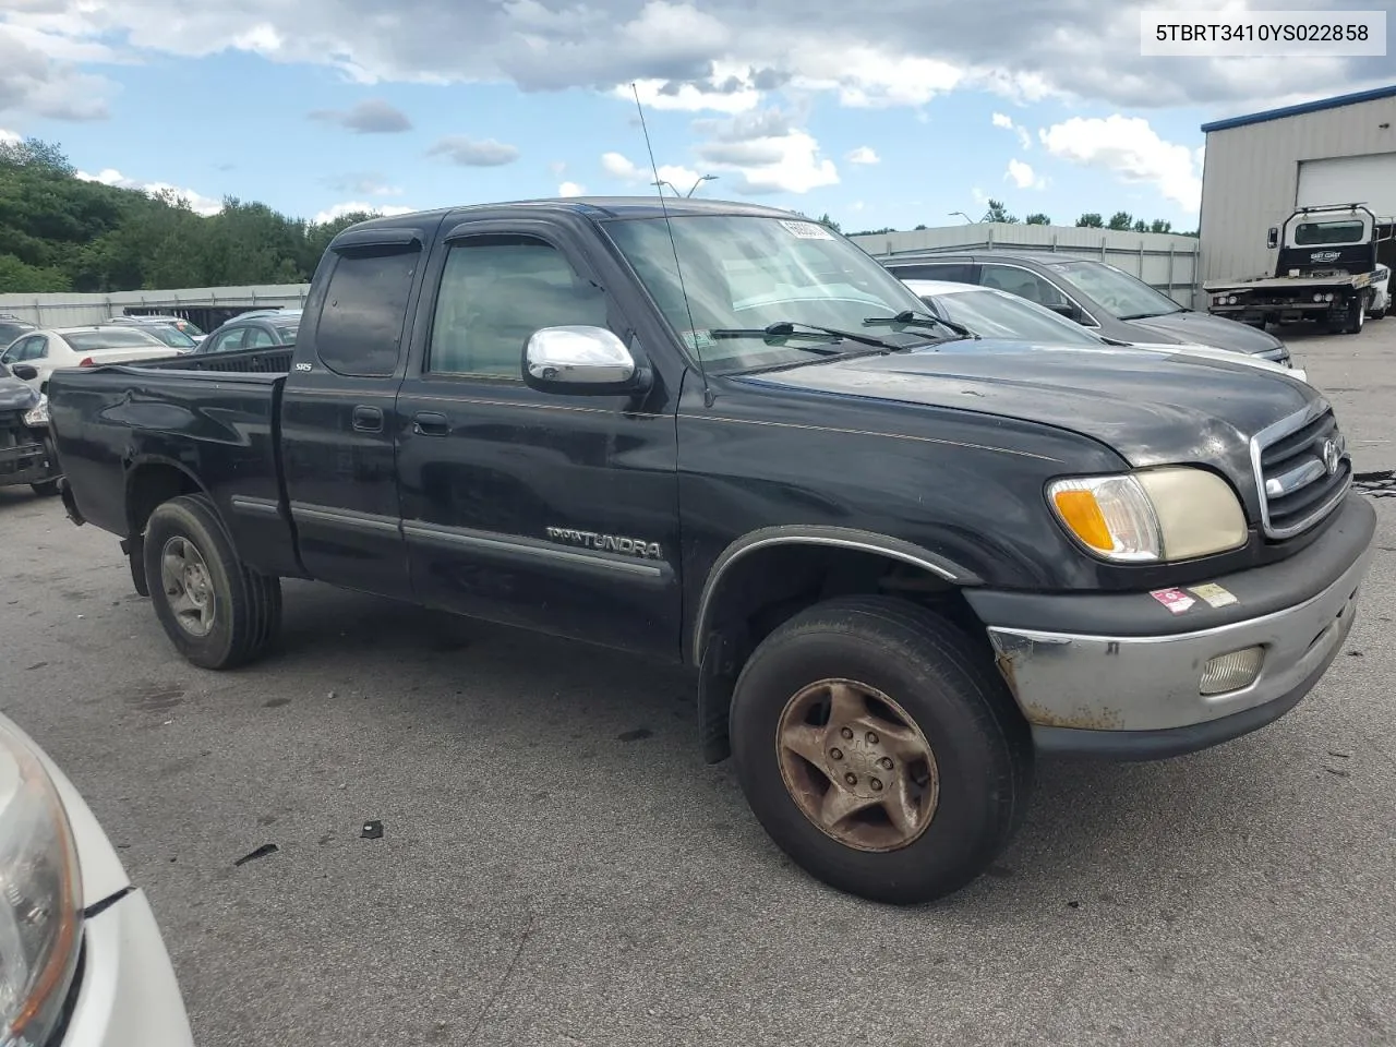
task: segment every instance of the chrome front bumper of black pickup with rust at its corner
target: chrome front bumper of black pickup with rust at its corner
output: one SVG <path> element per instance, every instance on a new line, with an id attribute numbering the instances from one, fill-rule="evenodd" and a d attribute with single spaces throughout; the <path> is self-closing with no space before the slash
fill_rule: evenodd
<path id="1" fill-rule="evenodd" d="M 1000 671 L 1044 751 L 1150 759 L 1279 719 L 1318 683 L 1353 627 L 1368 546 L 1315 596 L 1216 628 L 1153 637 L 988 627 Z M 1202 694 L 1210 659 L 1259 646 L 1245 687 Z"/>

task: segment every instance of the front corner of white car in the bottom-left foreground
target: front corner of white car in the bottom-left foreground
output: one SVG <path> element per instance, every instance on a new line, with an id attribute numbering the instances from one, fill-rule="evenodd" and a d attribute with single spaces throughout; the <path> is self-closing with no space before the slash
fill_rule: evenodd
<path id="1" fill-rule="evenodd" d="M 53 761 L 0 715 L 0 1044 L 193 1047 L 145 893 Z"/>

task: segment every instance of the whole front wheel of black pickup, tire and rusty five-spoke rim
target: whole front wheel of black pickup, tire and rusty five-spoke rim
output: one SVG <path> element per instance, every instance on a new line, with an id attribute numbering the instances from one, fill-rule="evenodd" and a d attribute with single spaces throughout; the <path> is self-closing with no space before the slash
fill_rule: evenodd
<path id="1" fill-rule="evenodd" d="M 775 843 L 877 902 L 973 881 L 1032 793 L 1027 725 L 988 656 L 905 600 L 836 599 L 785 623 L 741 670 L 730 733 Z"/>

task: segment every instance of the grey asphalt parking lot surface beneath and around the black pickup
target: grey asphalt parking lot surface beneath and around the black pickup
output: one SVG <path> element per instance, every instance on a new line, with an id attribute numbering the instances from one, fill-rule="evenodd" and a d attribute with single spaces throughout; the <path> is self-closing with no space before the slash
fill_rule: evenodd
<path id="1" fill-rule="evenodd" d="M 1358 472 L 1396 468 L 1396 318 L 1284 336 Z M 149 892 L 205 1047 L 1392 1043 L 1376 508 L 1357 624 L 1293 713 L 1041 765 L 1012 849 L 924 909 L 785 860 L 702 764 L 681 671 L 288 582 L 281 648 L 205 673 L 116 539 L 27 487 L 0 489 L 0 702 Z"/>

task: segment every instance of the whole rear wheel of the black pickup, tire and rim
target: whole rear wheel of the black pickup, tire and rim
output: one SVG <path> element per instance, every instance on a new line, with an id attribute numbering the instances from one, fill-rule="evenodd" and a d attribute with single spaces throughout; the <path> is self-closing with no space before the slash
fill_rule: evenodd
<path id="1" fill-rule="evenodd" d="M 281 579 L 243 567 L 202 494 L 151 514 L 145 582 L 155 614 L 186 659 L 233 669 L 260 656 L 281 628 Z"/>

